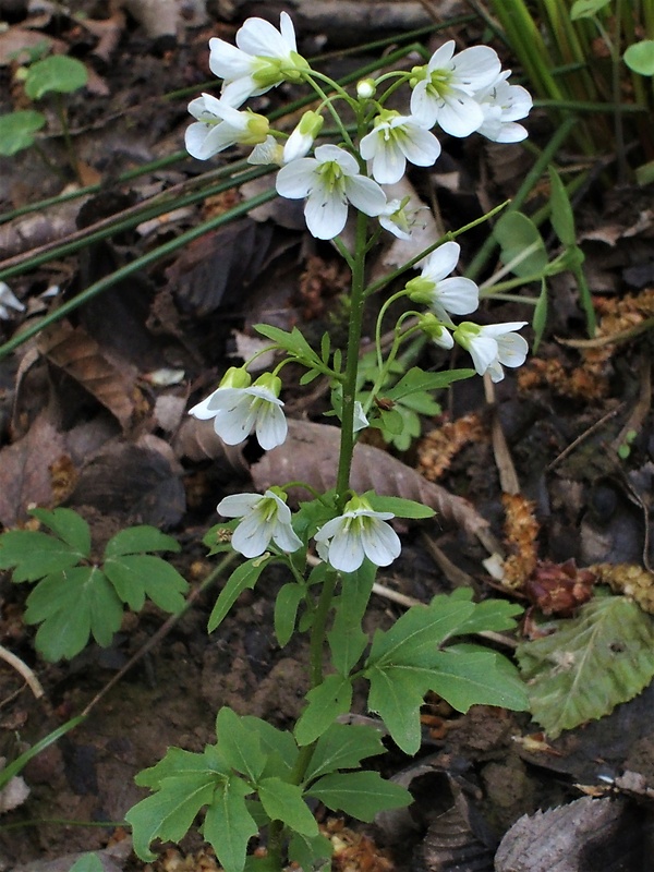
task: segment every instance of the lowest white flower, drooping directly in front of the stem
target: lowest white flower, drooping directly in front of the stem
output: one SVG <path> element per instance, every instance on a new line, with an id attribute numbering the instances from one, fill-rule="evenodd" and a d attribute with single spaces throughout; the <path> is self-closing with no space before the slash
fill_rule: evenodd
<path id="1" fill-rule="evenodd" d="M 398 534 L 387 524 L 390 511 L 373 511 L 363 497 L 353 497 L 342 514 L 322 526 L 314 538 L 318 555 L 341 572 L 354 572 L 365 557 L 375 566 L 388 566 L 399 556 Z"/>

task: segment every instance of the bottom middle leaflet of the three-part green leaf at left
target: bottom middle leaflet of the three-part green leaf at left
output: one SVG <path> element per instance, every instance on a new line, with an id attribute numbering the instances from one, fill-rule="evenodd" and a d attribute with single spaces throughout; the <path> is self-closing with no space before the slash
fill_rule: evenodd
<path id="1" fill-rule="evenodd" d="M 25 621 L 41 626 L 37 650 L 47 661 L 73 657 L 93 633 L 99 645 L 120 629 L 122 606 L 97 567 L 73 567 L 39 582 L 26 601 Z"/>

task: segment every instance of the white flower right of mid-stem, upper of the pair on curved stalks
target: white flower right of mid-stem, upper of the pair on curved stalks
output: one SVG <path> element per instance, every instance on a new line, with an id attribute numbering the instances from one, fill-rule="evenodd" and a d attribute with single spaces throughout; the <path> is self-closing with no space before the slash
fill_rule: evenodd
<path id="1" fill-rule="evenodd" d="M 446 242 L 424 259 L 421 275 L 407 282 L 411 300 L 428 306 L 447 327 L 455 326 L 449 313 L 468 315 L 480 302 L 480 289 L 472 279 L 446 278 L 457 266 L 460 252 L 459 243 Z"/>

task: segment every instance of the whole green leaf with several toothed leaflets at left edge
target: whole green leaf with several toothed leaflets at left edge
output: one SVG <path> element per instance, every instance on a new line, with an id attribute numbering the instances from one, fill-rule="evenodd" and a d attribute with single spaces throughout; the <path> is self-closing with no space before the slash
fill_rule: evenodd
<path id="1" fill-rule="evenodd" d="M 72 509 L 34 509 L 51 532 L 10 530 L 0 535 L 0 569 L 12 580 L 37 582 L 25 621 L 39 623 L 36 647 L 48 661 L 73 657 L 90 635 L 102 646 L 120 629 L 123 607 L 140 610 L 146 596 L 166 611 L 184 606 L 187 584 L 149 550 L 179 550 L 154 526 L 123 530 L 107 543 L 104 565 L 92 560 L 90 531 Z"/>

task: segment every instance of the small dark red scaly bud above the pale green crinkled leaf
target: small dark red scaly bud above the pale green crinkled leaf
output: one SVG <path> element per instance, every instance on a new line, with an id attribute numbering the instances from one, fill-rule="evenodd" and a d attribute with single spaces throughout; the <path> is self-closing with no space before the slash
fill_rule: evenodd
<path id="1" fill-rule="evenodd" d="M 573 559 L 565 564 L 542 560 L 526 580 L 523 591 L 544 615 L 570 618 L 579 606 L 589 602 L 596 581 L 596 572 L 578 569 Z"/>

